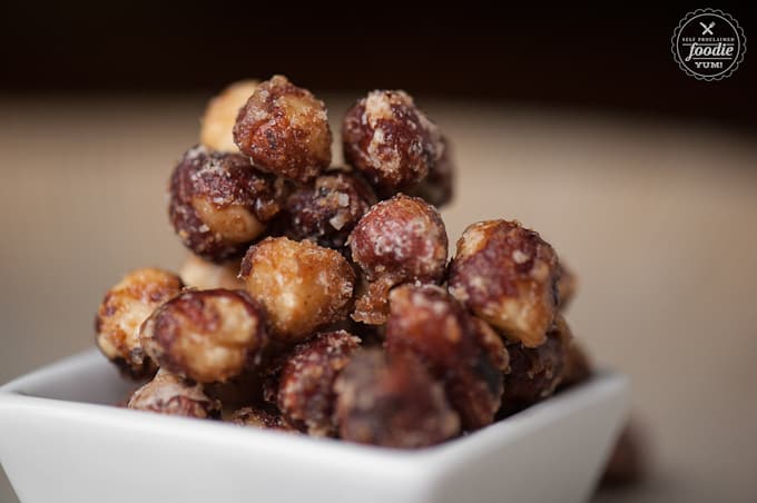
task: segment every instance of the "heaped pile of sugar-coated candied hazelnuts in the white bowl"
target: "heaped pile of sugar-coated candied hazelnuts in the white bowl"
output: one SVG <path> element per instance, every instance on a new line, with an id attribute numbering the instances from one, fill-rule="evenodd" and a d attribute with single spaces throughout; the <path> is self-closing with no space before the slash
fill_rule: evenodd
<path id="1" fill-rule="evenodd" d="M 342 124 L 285 77 L 208 105 L 170 177 L 193 253 L 105 296 L 97 345 L 148 379 L 128 407 L 421 447 L 590 374 L 562 310 L 573 276 L 514 220 L 471 225 L 448 260 L 450 142 L 404 91 Z"/>

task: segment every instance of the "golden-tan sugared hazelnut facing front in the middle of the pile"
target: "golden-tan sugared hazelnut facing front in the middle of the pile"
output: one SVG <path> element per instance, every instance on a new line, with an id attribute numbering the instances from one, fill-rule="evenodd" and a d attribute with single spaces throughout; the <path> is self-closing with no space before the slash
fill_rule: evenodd
<path id="1" fill-rule="evenodd" d="M 239 277 L 268 312 L 274 337 L 284 343 L 344 319 L 352 307 L 352 266 L 338 251 L 311 241 L 268 237 L 249 248 Z"/>

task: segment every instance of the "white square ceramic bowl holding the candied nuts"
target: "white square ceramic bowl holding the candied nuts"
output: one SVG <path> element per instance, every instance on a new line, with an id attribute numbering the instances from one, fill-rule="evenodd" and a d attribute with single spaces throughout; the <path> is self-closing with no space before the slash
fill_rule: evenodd
<path id="1" fill-rule="evenodd" d="M 110 406 L 134 385 L 96 351 L 0 387 L 0 461 L 22 502 L 578 502 L 627 410 L 600 373 L 472 435 L 419 451 Z"/>

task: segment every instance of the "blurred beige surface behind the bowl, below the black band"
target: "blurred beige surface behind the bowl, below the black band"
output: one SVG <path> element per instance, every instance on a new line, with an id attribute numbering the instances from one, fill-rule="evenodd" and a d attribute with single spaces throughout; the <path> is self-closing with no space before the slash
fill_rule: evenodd
<path id="1" fill-rule="evenodd" d="M 345 102 L 328 100 L 332 117 Z M 580 275 L 574 331 L 597 361 L 632 376 L 652 474 L 598 500 L 756 501 L 755 138 L 422 105 L 461 167 L 444 215 L 451 239 L 500 216 L 539 230 Z M 0 382 L 90 347 L 100 296 L 126 270 L 177 266 L 184 250 L 164 189 L 203 106 L 201 97 L 0 99 Z M 0 501 L 11 494 L 0 481 Z"/>

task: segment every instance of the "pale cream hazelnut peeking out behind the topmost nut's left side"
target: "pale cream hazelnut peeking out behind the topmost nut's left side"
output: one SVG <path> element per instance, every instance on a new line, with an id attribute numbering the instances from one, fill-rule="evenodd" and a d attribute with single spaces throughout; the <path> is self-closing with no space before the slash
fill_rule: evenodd
<path id="1" fill-rule="evenodd" d="M 257 88 L 257 80 L 240 80 L 214 96 L 203 116 L 199 142 L 210 150 L 238 152 L 234 144 L 234 124 L 239 109 Z"/>

